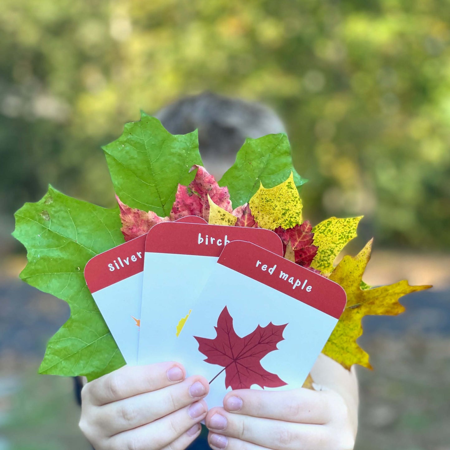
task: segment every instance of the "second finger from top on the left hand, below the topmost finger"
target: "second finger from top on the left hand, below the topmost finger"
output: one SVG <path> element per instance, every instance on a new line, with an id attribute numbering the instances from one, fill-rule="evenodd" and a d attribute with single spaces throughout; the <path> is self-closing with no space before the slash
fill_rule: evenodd
<path id="1" fill-rule="evenodd" d="M 173 386 L 96 408 L 94 422 L 106 436 L 154 422 L 198 401 L 209 392 L 206 378 L 193 376 Z"/>

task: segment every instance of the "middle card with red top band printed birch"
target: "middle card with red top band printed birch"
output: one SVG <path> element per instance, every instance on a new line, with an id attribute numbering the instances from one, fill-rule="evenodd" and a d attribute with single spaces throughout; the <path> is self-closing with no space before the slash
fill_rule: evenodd
<path id="1" fill-rule="evenodd" d="M 189 315 L 222 250 L 236 239 L 283 254 L 279 236 L 268 229 L 165 222 L 149 231 L 145 246 L 139 364 L 170 358 L 182 325 L 180 320 Z"/>

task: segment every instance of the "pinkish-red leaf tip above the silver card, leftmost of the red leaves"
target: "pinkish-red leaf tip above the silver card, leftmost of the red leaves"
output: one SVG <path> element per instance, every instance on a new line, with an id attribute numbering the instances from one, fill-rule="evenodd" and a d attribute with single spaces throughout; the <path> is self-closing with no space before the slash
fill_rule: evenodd
<path id="1" fill-rule="evenodd" d="M 122 221 L 121 231 L 126 241 L 148 233 L 153 225 L 170 220 L 169 217 L 157 216 L 153 211 L 145 212 L 137 208 L 130 208 L 122 203 L 117 195 L 116 198 L 117 203 L 119 203 L 120 220 Z"/>

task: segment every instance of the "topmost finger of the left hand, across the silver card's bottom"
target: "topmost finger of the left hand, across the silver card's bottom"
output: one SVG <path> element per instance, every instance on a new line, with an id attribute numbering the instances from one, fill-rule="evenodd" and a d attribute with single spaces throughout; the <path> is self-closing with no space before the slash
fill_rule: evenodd
<path id="1" fill-rule="evenodd" d="M 175 362 L 125 366 L 87 383 L 81 391 L 81 398 L 94 405 L 106 405 L 180 383 L 185 376 L 183 366 Z"/>

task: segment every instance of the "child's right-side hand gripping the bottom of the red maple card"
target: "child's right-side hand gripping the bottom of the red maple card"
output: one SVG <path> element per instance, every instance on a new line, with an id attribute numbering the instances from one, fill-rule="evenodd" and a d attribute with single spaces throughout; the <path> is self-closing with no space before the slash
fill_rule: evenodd
<path id="1" fill-rule="evenodd" d="M 225 408 L 207 414 L 208 441 L 226 450 L 351 450 L 355 432 L 343 398 L 315 392 L 229 392 Z"/>

